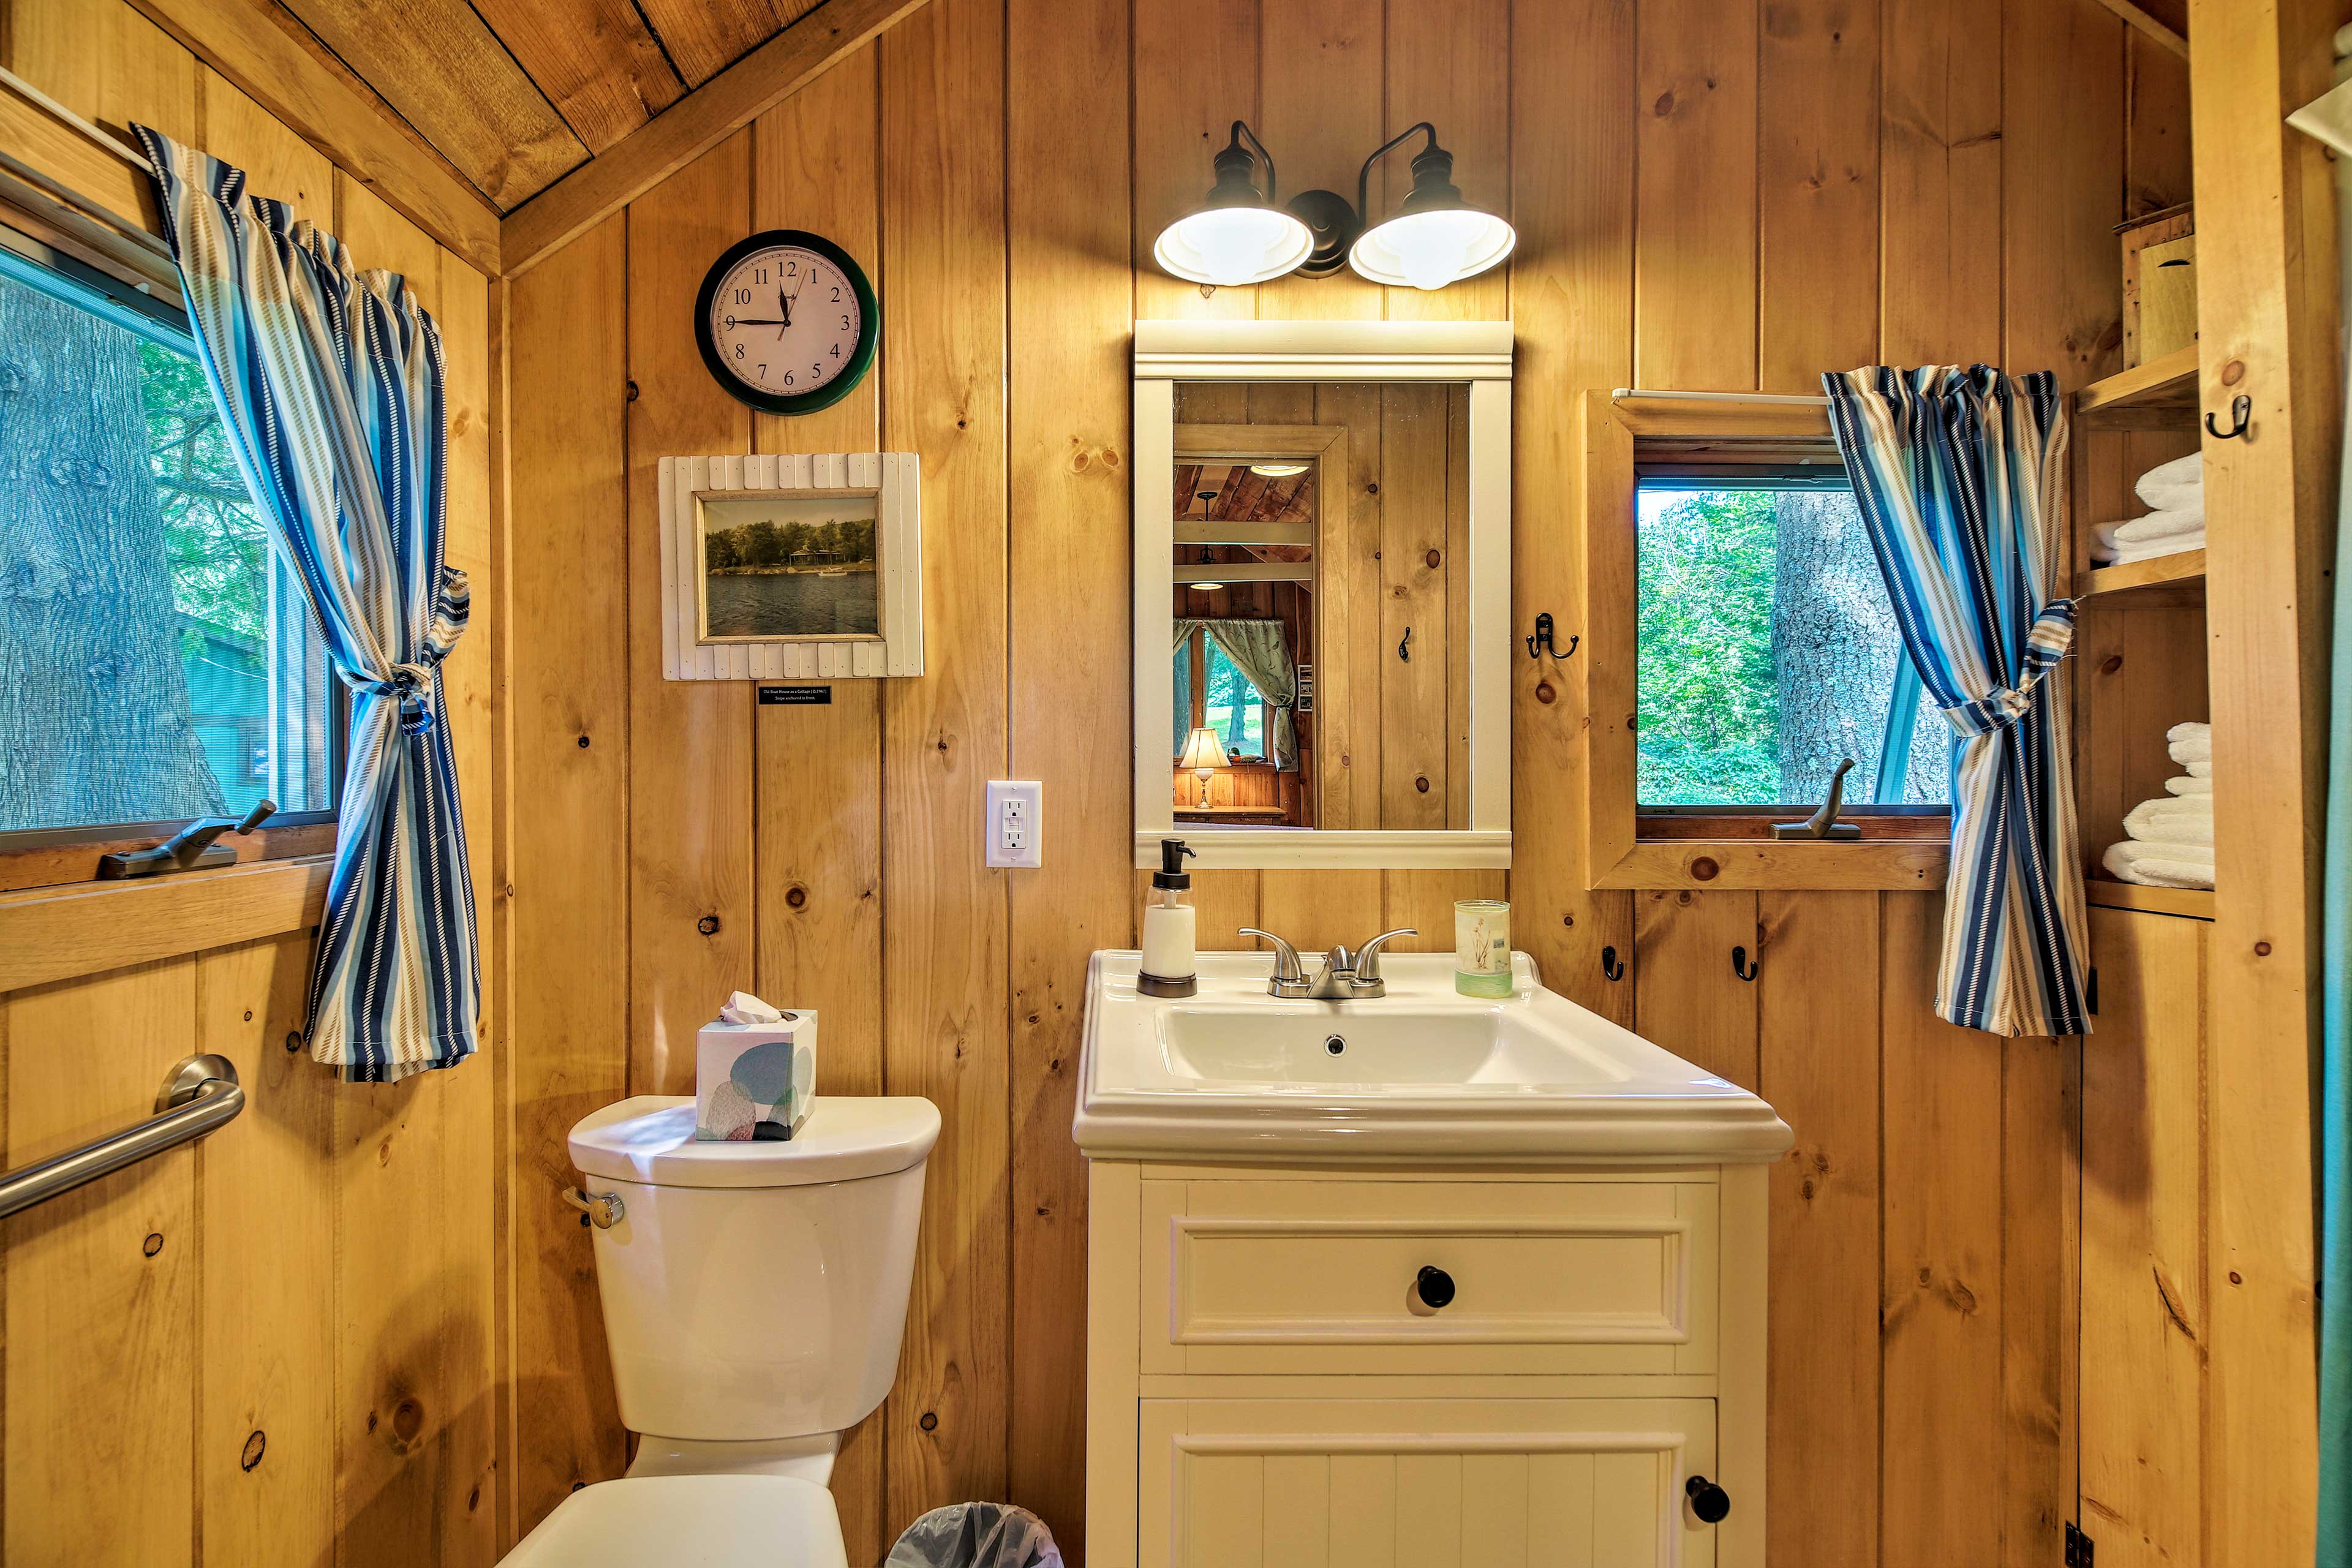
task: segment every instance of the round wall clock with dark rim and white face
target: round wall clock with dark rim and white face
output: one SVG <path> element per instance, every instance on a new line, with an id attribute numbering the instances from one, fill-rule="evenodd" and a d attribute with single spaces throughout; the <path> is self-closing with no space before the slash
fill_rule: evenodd
<path id="1" fill-rule="evenodd" d="M 769 228 L 727 247 L 694 296 L 694 341 L 729 395 L 764 414 L 840 402 L 875 360 L 882 306 L 833 240 Z"/>

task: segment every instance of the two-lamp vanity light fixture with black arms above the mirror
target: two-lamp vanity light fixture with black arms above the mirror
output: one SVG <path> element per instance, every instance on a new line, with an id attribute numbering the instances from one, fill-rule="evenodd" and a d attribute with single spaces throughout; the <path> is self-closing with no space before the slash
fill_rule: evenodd
<path id="1" fill-rule="evenodd" d="M 1369 223 L 1371 165 L 1423 134 L 1428 143 L 1414 153 L 1411 195 L 1395 216 Z M 1263 197 L 1249 148 L 1265 160 Z M 1216 155 L 1216 188 L 1200 212 L 1160 233 L 1152 256 L 1176 277 L 1209 287 L 1268 282 L 1284 273 L 1331 277 L 1352 266 L 1378 284 L 1442 289 L 1477 277 L 1519 242 L 1510 223 L 1463 200 L 1454 183 L 1454 153 L 1437 146 L 1437 127 L 1428 120 L 1364 160 L 1352 205 L 1336 190 L 1301 190 L 1282 207 L 1275 200 L 1275 160 L 1256 132 L 1235 120 L 1232 141 Z"/>

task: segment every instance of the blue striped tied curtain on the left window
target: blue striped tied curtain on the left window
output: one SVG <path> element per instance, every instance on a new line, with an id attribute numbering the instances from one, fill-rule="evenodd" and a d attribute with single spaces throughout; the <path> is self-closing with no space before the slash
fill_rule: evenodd
<path id="1" fill-rule="evenodd" d="M 350 689 L 350 762 L 310 973 L 310 1056 L 388 1084 L 473 1053 L 473 875 L 440 665 L 466 630 L 442 559 L 440 329 L 397 273 L 245 172 L 146 143 L 205 378 L 278 557 Z"/>

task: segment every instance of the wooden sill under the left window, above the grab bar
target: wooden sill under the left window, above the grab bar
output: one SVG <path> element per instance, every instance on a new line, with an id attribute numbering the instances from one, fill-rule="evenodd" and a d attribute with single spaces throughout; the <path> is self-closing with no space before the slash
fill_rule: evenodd
<path id="1" fill-rule="evenodd" d="M 334 856 L 0 893 L 0 992 L 315 926 Z"/>

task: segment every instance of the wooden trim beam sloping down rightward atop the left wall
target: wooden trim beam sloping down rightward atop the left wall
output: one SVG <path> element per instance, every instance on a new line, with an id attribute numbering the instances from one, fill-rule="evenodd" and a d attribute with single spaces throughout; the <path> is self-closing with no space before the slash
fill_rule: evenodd
<path id="1" fill-rule="evenodd" d="M 499 275 L 499 209 L 294 42 L 270 16 L 273 7 L 254 0 L 132 5 L 405 219 L 485 275 Z"/>

